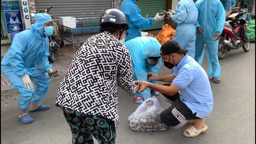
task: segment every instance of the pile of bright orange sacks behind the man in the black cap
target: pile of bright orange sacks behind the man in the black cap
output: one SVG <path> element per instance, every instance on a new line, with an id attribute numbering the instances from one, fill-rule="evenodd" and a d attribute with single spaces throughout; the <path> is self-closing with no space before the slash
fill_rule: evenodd
<path id="1" fill-rule="evenodd" d="M 172 40 L 176 30 L 174 30 L 171 26 L 168 24 L 165 24 L 162 26 L 162 30 L 156 35 L 156 39 L 158 42 L 162 45 L 168 40 Z"/>

